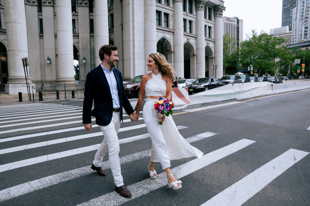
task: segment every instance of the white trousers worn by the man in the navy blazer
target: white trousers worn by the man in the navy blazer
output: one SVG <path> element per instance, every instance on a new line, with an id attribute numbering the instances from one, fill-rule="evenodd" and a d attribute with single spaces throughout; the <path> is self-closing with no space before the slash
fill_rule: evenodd
<path id="1" fill-rule="evenodd" d="M 109 150 L 109 162 L 114 178 L 114 183 L 117 187 L 124 185 L 123 177 L 121 174 L 121 165 L 119 163 L 119 142 L 117 133 L 121 126 L 120 112 L 114 112 L 112 115 L 112 120 L 107 126 L 100 126 L 103 133 L 104 139 L 100 144 L 98 151 L 96 152 L 93 164 L 96 167 L 100 167 L 104 155 Z"/>

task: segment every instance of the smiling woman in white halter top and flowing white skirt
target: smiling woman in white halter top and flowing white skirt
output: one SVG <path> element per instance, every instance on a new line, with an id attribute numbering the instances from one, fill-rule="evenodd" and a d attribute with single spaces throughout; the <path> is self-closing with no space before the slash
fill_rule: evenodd
<path id="1" fill-rule="evenodd" d="M 193 156 L 201 158 L 203 153 L 184 140 L 171 115 L 159 117 L 158 112 L 154 109 L 154 103 L 159 97 L 171 99 L 171 79 L 175 79 L 173 75 L 174 69 L 172 69 L 166 58 L 159 53 L 150 54 L 146 65 L 151 73 L 143 75 L 141 79 L 137 110 L 132 119 L 138 121 L 139 111 L 144 95 L 146 95 L 143 118 L 153 143 L 148 172 L 152 179 L 156 178 L 154 162 L 160 162 L 162 168 L 166 171 L 168 186 L 179 189 L 182 187 L 182 182 L 176 180 L 172 175 L 170 160 Z M 162 125 L 159 125 L 158 121 L 162 122 Z"/>

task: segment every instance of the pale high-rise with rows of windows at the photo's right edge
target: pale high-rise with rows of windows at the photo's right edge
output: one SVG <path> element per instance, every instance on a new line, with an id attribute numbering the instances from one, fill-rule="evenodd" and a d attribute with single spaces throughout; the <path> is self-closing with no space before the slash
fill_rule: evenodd
<path id="1" fill-rule="evenodd" d="M 300 0 L 293 9 L 292 44 L 308 41 L 310 39 L 309 26 L 310 0 Z"/>

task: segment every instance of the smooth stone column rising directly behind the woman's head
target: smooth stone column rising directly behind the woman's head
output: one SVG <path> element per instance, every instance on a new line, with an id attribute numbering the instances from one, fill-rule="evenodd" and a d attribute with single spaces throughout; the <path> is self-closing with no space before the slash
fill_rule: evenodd
<path id="1" fill-rule="evenodd" d="M 144 32 L 145 32 L 145 62 L 148 60 L 148 55 L 157 52 L 156 41 L 156 2 L 155 0 L 144 1 Z M 145 73 L 148 68 L 145 67 Z"/>

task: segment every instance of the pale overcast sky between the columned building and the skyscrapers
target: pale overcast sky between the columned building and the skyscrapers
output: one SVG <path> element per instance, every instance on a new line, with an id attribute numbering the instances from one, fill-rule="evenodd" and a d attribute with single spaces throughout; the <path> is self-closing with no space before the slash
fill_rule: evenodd
<path id="1" fill-rule="evenodd" d="M 269 34 L 269 29 L 281 27 L 282 0 L 224 0 L 223 16 L 243 20 L 243 40 L 256 29 Z"/>

